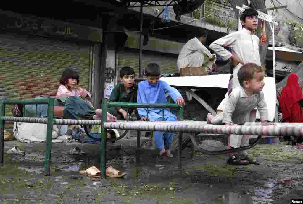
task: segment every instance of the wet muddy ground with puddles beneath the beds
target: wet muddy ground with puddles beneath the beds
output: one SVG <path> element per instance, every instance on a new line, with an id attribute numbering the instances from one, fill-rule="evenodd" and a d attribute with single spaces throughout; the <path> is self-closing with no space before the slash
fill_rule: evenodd
<path id="1" fill-rule="evenodd" d="M 124 139 L 122 139 L 124 140 Z M 303 198 L 303 149 L 284 144 L 258 144 L 248 153 L 261 165 L 227 165 L 226 155 L 209 156 L 190 148 L 183 151 L 183 169 L 176 158 L 157 151 L 123 145 L 108 151 L 107 165 L 127 175 L 91 179 L 79 174 L 99 167 L 99 146 L 53 144 L 52 174 L 43 175 L 45 144 L 5 142 L 5 151 L 18 146 L 25 155 L 5 154 L 0 166 L 0 203 L 290 203 Z M 127 141 L 127 139 L 125 139 Z M 86 155 L 70 155 L 79 147 Z M 175 157 L 176 157 L 175 153 Z"/>

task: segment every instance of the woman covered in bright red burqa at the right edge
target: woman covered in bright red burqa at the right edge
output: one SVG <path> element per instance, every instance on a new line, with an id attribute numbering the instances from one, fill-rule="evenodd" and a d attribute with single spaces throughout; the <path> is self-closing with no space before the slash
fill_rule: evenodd
<path id="1" fill-rule="evenodd" d="M 297 74 L 291 73 L 288 76 L 287 84 L 281 92 L 279 104 L 284 122 L 303 122 L 303 95 Z M 301 141 L 302 137 L 299 140 Z"/>

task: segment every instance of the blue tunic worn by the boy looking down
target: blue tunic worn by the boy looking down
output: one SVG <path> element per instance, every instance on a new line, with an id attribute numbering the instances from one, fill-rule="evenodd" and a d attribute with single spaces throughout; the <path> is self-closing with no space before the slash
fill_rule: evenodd
<path id="1" fill-rule="evenodd" d="M 168 83 L 158 80 L 156 85 L 150 85 L 148 81 L 142 81 L 138 84 L 138 96 L 137 103 L 165 103 L 167 99 L 165 95 L 169 95 L 175 102 L 178 98 L 182 97 L 177 89 L 169 86 Z M 138 113 L 141 118 L 147 116 L 146 108 L 138 108 Z M 168 109 L 164 110 L 165 120 L 168 117 L 174 117 Z M 148 118 L 150 121 L 156 121 L 158 118 L 162 118 L 162 108 L 148 108 Z"/>

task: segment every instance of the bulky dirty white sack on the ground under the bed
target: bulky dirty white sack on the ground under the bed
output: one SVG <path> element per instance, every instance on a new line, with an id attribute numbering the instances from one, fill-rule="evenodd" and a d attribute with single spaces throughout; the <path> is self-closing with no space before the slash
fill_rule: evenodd
<path id="1" fill-rule="evenodd" d="M 47 124 L 14 122 L 16 140 L 26 143 L 39 143 L 46 141 Z M 52 139 L 61 135 L 61 125 L 53 125 Z"/>

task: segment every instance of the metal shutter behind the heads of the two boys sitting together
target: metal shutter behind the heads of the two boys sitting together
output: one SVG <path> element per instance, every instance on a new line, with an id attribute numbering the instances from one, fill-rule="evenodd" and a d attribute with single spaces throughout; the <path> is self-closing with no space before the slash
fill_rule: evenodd
<path id="1" fill-rule="evenodd" d="M 176 73 L 178 55 L 169 53 L 157 53 L 151 51 L 142 51 L 142 69 L 149 63 L 157 63 L 161 67 L 161 73 Z M 132 66 L 138 77 L 139 69 L 139 51 L 128 49 L 120 51 L 118 54 L 118 69 L 123 66 Z"/>

